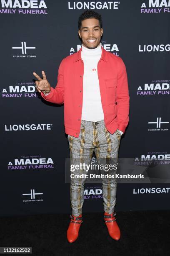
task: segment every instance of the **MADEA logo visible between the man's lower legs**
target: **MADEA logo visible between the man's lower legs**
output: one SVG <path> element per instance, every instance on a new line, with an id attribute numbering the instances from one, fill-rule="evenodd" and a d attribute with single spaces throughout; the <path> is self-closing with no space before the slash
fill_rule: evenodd
<path id="1" fill-rule="evenodd" d="M 102 186 L 85 187 L 84 199 L 102 199 Z"/>

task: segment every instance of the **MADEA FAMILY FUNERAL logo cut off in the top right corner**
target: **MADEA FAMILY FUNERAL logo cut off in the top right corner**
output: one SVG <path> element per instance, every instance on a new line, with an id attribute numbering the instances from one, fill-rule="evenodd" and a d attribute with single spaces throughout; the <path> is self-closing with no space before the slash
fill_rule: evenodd
<path id="1" fill-rule="evenodd" d="M 170 0 L 149 0 L 143 2 L 140 13 L 170 13 Z"/>

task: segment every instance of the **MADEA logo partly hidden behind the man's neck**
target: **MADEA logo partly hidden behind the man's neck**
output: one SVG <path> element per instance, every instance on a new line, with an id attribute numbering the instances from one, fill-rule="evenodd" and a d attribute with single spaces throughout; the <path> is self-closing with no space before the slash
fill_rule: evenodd
<path id="1" fill-rule="evenodd" d="M 117 44 L 106 44 L 106 41 L 101 41 L 102 47 L 106 51 L 110 51 L 112 54 L 115 54 L 116 56 L 119 56 L 119 49 Z M 71 47 L 70 49 L 70 55 L 74 54 L 76 51 L 79 51 L 81 48 L 80 44 L 77 44 L 76 47 Z"/>

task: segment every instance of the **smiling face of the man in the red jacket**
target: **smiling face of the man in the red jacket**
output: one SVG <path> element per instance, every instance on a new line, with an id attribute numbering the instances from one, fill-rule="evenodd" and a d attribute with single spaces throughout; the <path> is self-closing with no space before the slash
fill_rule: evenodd
<path id="1" fill-rule="evenodd" d="M 100 45 L 103 29 L 100 28 L 99 20 L 89 18 L 82 20 L 82 26 L 78 31 L 82 39 L 82 45 L 89 49 L 95 49 Z"/>

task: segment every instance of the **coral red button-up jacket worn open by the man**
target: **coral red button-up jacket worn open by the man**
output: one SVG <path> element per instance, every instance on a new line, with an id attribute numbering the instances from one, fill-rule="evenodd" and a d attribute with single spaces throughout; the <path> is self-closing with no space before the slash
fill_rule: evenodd
<path id="1" fill-rule="evenodd" d="M 64 103 L 65 133 L 78 138 L 81 125 L 84 63 L 82 47 L 65 57 L 58 69 L 57 85 L 42 97 L 53 103 Z M 122 59 L 102 47 L 97 64 L 105 126 L 110 133 L 117 128 L 125 132 L 129 122 L 129 90 L 126 67 Z"/>

